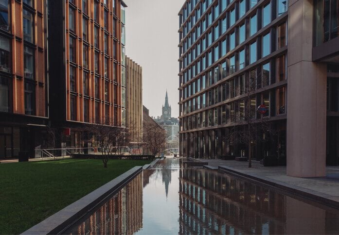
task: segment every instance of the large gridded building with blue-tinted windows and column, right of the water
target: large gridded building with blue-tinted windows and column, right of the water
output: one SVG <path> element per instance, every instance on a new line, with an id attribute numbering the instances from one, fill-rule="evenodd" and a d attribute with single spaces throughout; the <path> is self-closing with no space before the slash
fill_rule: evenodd
<path id="1" fill-rule="evenodd" d="M 276 133 L 256 133 L 257 160 L 287 158 L 287 174 L 304 177 L 323 176 L 326 157 L 338 164 L 338 128 L 327 133 L 326 150 L 326 113 L 327 121 L 338 116 L 326 110 L 326 94 L 339 103 L 335 9 L 336 0 L 186 0 L 178 31 L 180 154 L 247 155 L 248 144 L 228 136 L 251 115 Z"/>

